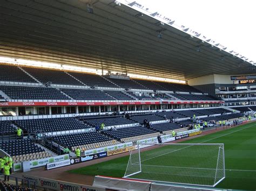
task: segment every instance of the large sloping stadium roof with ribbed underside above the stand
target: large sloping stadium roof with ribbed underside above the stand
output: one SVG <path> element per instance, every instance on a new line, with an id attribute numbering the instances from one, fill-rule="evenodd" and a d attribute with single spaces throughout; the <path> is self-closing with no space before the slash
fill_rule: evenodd
<path id="1" fill-rule="evenodd" d="M 255 73 L 252 62 L 211 39 L 123 3 L 2 0 L 0 55 L 179 80 Z"/>

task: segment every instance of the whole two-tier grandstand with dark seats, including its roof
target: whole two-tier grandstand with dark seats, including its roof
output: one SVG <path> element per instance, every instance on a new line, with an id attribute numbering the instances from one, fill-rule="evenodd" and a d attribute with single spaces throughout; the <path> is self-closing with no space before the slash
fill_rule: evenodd
<path id="1" fill-rule="evenodd" d="M 256 116 L 253 61 L 136 1 L 0 5 L 0 157 L 12 159 L 12 176 Z M 37 176 L 56 185 L 74 180 L 28 172 L 25 185 L 0 176 L 0 189 L 33 190 Z"/>

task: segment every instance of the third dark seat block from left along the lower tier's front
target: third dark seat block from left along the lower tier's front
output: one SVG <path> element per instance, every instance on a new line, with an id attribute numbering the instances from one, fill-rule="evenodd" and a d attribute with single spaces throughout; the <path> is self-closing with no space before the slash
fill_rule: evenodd
<path id="1" fill-rule="evenodd" d="M 106 135 L 109 135 L 110 137 L 113 137 L 114 139 L 118 139 L 118 140 L 126 137 L 146 135 L 146 134 L 151 134 L 155 132 L 156 131 L 152 129 L 147 129 L 142 126 L 135 126 L 131 128 L 117 128 L 116 130 L 104 131 Z"/>

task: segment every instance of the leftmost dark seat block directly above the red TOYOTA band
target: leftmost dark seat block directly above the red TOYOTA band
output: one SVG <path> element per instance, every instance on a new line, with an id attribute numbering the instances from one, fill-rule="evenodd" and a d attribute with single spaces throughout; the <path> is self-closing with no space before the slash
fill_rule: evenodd
<path id="1" fill-rule="evenodd" d="M 14 100 L 70 100 L 55 88 L 0 86 L 0 89 Z"/>

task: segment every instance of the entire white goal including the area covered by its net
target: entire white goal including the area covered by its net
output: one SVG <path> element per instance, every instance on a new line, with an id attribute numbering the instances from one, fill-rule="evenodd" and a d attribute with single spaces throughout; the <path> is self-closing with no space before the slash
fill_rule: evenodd
<path id="1" fill-rule="evenodd" d="M 224 144 L 138 144 L 124 178 L 214 187 L 225 179 Z"/>

